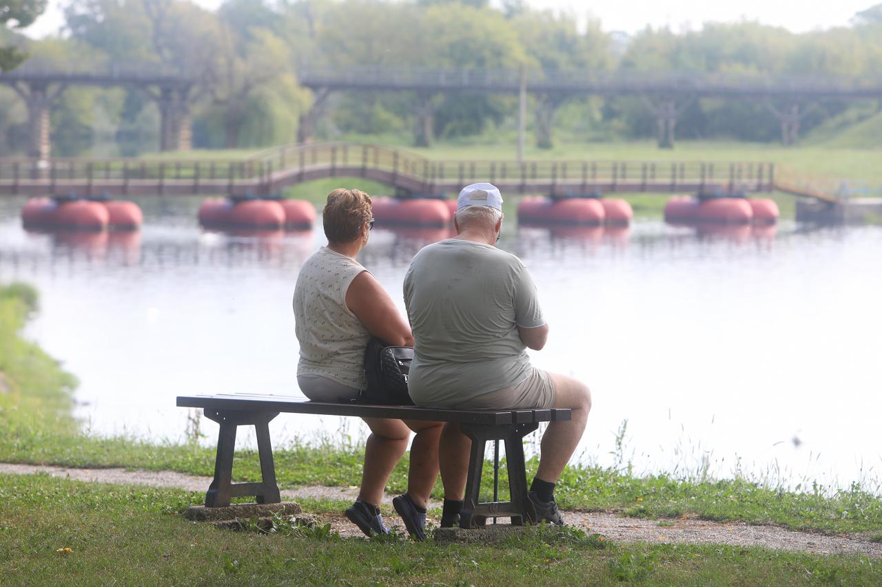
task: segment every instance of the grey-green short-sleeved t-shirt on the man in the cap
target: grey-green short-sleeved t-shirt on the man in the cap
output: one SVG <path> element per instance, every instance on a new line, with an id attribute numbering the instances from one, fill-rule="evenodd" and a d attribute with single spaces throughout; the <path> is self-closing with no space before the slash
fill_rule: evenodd
<path id="1" fill-rule="evenodd" d="M 461 239 L 430 244 L 410 263 L 404 303 L 415 338 L 407 389 L 416 405 L 458 404 L 530 375 L 518 326 L 545 320 L 517 256 Z"/>

